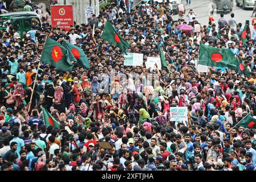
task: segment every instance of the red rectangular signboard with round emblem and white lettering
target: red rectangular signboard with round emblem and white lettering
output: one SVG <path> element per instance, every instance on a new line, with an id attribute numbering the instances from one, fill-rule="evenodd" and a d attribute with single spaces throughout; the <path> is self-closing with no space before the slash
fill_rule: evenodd
<path id="1" fill-rule="evenodd" d="M 73 25 L 73 6 L 60 5 L 51 6 L 52 27 L 59 27 L 61 30 L 69 31 Z"/>

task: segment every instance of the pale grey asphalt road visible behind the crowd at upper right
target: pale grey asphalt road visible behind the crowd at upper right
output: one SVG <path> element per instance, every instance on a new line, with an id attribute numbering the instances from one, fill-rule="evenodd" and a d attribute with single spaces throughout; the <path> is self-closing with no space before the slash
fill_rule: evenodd
<path id="1" fill-rule="evenodd" d="M 187 15 L 188 11 L 192 9 L 197 14 L 196 20 L 201 23 L 201 25 L 208 25 L 209 12 L 212 10 L 212 0 L 191 0 L 191 5 L 186 5 L 185 0 L 182 1 L 186 9 L 185 15 Z M 250 20 L 251 25 L 251 20 L 255 18 L 255 16 L 251 18 L 251 14 L 253 13 L 252 9 L 243 10 L 242 7 L 237 7 L 235 0 L 232 13 L 234 13 L 234 18 L 237 19 L 237 23 L 242 23 L 243 25 L 245 24 L 245 20 Z M 224 17 L 228 20 L 231 18 L 230 14 L 231 13 L 224 15 Z M 220 13 L 217 13 L 215 10 L 213 17 L 215 22 L 218 22 L 218 19 L 220 18 Z M 173 19 L 177 20 L 177 15 L 174 15 Z M 188 18 L 185 17 L 185 20 L 188 20 Z M 253 26 L 250 26 L 250 28 L 251 30 L 253 30 Z"/>

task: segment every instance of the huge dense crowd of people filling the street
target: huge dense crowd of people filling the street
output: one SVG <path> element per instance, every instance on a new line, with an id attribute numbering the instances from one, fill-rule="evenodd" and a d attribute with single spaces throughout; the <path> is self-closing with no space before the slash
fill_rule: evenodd
<path id="1" fill-rule="evenodd" d="M 129 13 L 127 1 L 110 2 L 68 32 L 46 17 L 22 35 L 11 25 L 0 30 L 1 171 L 255 170 L 255 129 L 236 126 L 256 115 L 255 34 L 247 28 L 243 46 L 243 27 L 233 14 L 204 25 L 193 10 L 187 22 L 172 19 L 168 2 L 148 1 Z M 130 43 L 127 52 L 143 53 L 143 65 L 125 66 L 125 54 L 101 39 L 107 20 Z M 47 36 L 82 48 L 90 68 L 63 72 L 41 63 Z M 144 65 L 147 57 L 159 57 L 153 38 L 167 69 Z M 201 73 L 195 64 L 200 43 L 230 49 L 250 75 L 214 67 Z M 188 120 L 170 121 L 170 107 L 181 106 Z M 59 127 L 46 125 L 42 107 Z"/>

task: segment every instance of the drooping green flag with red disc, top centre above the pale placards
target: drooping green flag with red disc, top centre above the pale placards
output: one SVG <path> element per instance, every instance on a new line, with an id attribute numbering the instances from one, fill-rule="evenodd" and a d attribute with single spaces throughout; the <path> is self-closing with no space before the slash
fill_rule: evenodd
<path id="1" fill-rule="evenodd" d="M 114 44 L 114 46 L 119 47 L 122 52 L 126 53 L 127 48 L 130 47 L 130 44 L 126 42 L 125 39 L 123 39 L 117 31 L 115 31 L 112 24 L 109 22 L 109 20 L 106 22 L 104 31 L 101 35 L 101 38 Z"/>

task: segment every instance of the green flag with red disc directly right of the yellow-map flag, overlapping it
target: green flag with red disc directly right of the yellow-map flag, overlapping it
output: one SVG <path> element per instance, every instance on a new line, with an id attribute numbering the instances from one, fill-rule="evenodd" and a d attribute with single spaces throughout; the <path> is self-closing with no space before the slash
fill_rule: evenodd
<path id="1" fill-rule="evenodd" d="M 63 40 L 63 46 L 69 51 L 69 59 L 77 62 L 79 67 L 83 67 L 86 69 L 90 68 L 88 57 L 85 55 L 84 51 L 80 47 L 77 47 L 67 40 Z"/>

